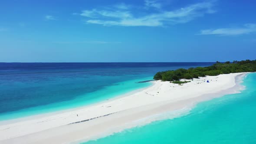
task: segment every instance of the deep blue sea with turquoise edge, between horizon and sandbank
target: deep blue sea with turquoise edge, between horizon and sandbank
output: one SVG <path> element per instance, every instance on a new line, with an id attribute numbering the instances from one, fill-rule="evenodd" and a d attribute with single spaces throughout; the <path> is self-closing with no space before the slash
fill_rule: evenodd
<path id="1" fill-rule="evenodd" d="M 158 71 L 214 62 L 0 63 L 0 121 L 105 101 L 151 85 Z"/>

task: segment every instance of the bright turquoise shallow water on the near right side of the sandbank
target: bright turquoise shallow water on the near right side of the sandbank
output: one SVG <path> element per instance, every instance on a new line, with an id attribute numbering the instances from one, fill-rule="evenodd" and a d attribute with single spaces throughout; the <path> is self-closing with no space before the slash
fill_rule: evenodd
<path id="1" fill-rule="evenodd" d="M 256 144 L 256 73 L 242 93 L 201 102 L 189 114 L 84 144 Z"/>

